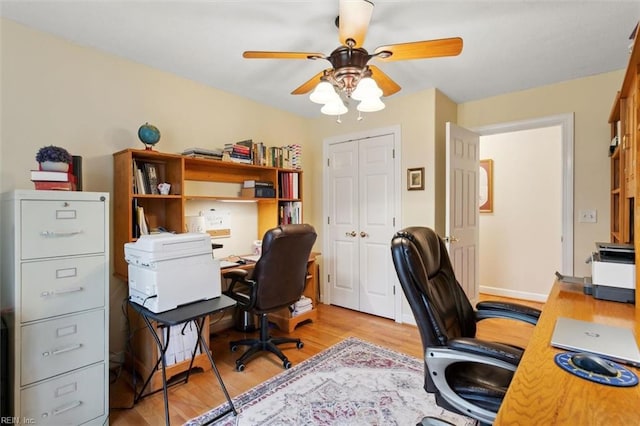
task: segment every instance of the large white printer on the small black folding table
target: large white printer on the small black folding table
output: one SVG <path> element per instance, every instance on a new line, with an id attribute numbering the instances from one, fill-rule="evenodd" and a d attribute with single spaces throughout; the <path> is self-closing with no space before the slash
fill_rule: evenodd
<path id="1" fill-rule="evenodd" d="M 129 298 L 152 312 L 212 299 L 221 294 L 220 261 L 209 234 L 142 235 L 124 245 Z"/>

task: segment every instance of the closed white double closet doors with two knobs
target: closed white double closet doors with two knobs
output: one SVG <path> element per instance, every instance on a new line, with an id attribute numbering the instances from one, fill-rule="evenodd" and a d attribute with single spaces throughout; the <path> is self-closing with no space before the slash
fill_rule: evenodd
<path id="1" fill-rule="evenodd" d="M 330 303 L 394 318 L 394 135 L 332 143 L 327 166 Z"/>

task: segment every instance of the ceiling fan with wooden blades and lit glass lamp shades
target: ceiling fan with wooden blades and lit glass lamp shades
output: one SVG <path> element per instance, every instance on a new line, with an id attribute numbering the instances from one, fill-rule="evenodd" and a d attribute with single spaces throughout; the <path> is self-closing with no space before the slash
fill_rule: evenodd
<path id="1" fill-rule="evenodd" d="M 380 96 L 390 96 L 400 90 L 400 86 L 378 67 L 369 65 L 370 60 L 391 62 L 426 59 L 456 56 L 462 51 L 462 39 L 452 37 L 389 44 L 369 53 L 362 46 L 372 14 L 373 3 L 368 0 L 340 0 L 336 26 L 341 45 L 329 56 L 322 53 L 273 51 L 246 51 L 242 56 L 248 59 L 326 59 L 332 68 L 314 75 L 291 94 L 300 95 L 313 90 L 310 98 L 324 104 L 323 113 L 340 115 L 346 113 L 347 108 L 335 92 L 336 89 L 348 98 L 361 101 L 359 111 L 384 108 Z"/>

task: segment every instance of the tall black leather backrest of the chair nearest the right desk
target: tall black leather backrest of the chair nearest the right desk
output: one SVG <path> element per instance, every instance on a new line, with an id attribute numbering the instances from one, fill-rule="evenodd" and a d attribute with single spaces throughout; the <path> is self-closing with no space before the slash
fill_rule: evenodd
<path id="1" fill-rule="evenodd" d="M 423 349 L 475 337 L 475 312 L 456 280 L 444 241 L 432 229 L 409 227 L 395 234 L 391 252 Z"/>

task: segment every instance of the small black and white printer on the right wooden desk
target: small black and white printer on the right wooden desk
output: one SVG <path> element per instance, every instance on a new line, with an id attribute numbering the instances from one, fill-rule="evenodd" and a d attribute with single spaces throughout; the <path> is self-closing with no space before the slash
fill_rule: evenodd
<path id="1" fill-rule="evenodd" d="M 635 250 L 631 244 L 596 243 L 591 255 L 593 297 L 635 303 Z"/>

